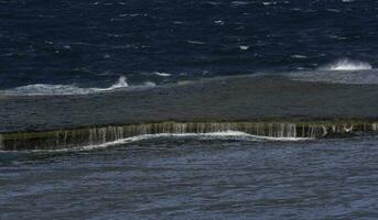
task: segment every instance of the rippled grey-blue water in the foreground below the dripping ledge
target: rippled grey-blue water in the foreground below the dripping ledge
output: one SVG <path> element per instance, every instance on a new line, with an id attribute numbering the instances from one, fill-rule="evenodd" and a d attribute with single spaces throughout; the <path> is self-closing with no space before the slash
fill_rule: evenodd
<path id="1" fill-rule="evenodd" d="M 377 140 L 0 153 L 0 219 L 376 219 Z"/>

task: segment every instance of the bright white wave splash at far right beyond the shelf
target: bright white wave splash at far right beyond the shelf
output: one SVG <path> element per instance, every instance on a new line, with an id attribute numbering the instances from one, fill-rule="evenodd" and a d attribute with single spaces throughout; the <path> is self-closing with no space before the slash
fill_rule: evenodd
<path id="1" fill-rule="evenodd" d="M 339 59 L 333 64 L 321 68 L 322 70 L 367 70 L 372 69 L 371 65 L 366 62 L 350 61 L 347 58 Z"/>

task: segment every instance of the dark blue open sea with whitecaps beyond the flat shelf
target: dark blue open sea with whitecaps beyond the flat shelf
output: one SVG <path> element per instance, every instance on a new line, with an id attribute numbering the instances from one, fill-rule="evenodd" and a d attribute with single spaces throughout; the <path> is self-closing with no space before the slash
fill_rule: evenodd
<path id="1" fill-rule="evenodd" d="M 374 0 L 2 0 L 0 89 L 374 68 L 377 32 Z"/>

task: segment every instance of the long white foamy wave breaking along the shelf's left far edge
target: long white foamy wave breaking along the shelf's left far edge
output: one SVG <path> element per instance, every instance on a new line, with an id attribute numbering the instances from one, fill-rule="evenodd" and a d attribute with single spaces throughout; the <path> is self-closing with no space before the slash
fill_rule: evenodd
<path id="1" fill-rule="evenodd" d="M 144 86 L 155 86 L 153 82 L 148 81 Z M 101 91 L 111 91 L 120 88 L 127 88 L 129 84 L 126 81 L 126 77 L 119 77 L 118 81 L 108 88 L 80 88 L 74 85 L 50 85 L 50 84 L 33 84 L 28 86 L 21 86 L 13 89 L 0 91 L 3 95 L 87 95 Z"/>

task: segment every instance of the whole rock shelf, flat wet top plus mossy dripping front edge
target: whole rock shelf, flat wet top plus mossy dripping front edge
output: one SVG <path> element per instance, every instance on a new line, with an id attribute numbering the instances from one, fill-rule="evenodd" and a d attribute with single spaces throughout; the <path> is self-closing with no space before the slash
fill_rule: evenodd
<path id="1" fill-rule="evenodd" d="M 270 138 L 377 131 L 378 87 L 234 76 L 85 96 L 1 96 L 0 148 L 67 148 L 142 134 Z"/>

